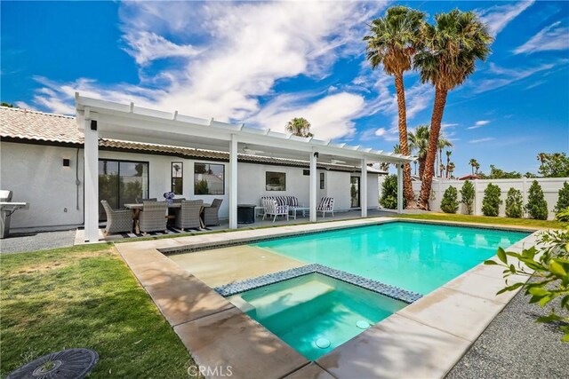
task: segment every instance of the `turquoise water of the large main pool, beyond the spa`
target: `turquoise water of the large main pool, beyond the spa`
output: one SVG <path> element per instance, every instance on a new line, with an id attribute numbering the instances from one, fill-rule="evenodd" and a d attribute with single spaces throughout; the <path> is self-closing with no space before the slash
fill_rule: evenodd
<path id="1" fill-rule="evenodd" d="M 254 244 L 426 295 L 529 233 L 389 223 Z"/>

